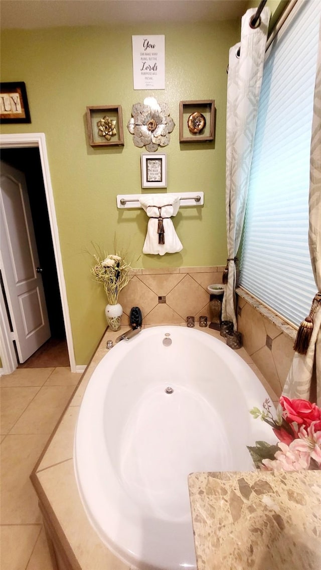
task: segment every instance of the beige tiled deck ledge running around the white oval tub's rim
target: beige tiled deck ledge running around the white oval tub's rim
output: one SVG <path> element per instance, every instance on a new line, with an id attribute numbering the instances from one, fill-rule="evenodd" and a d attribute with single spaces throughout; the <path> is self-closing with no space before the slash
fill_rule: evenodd
<path id="1" fill-rule="evenodd" d="M 186 326 L 185 323 L 180 325 Z M 146 325 L 149 326 L 151 325 Z M 219 335 L 219 331 L 199 328 L 198 322 L 195 323 L 195 328 L 215 336 L 222 343 L 226 342 Z M 116 337 L 126 329 L 127 326 L 122 326 L 120 331 L 107 330 L 103 335 L 97 352 L 83 373 L 61 422 L 31 475 L 51 552 L 58 552 L 63 561 L 57 566 L 58 570 L 130 570 L 129 564 L 115 557 L 91 527 L 79 497 L 73 465 L 74 430 L 83 393 L 95 367 L 107 352 L 107 340 L 115 341 Z M 250 365 L 267 389 L 271 400 L 276 402 L 275 393 L 244 348 L 236 352 Z"/>

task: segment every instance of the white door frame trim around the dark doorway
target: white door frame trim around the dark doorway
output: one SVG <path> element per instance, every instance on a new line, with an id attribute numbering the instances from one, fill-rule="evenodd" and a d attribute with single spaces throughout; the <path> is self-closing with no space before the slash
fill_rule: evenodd
<path id="1" fill-rule="evenodd" d="M 67 302 L 67 290 L 65 276 L 63 275 L 62 256 L 59 243 L 59 232 L 57 217 L 55 212 L 53 188 L 51 186 L 51 178 L 49 171 L 49 161 L 47 156 L 46 137 L 45 133 L 18 133 L 17 135 L 0 135 L 0 148 L 29 148 L 35 146 L 39 149 L 43 185 L 45 186 L 46 202 L 49 215 L 49 223 L 51 230 L 51 237 L 53 239 L 54 256 L 57 267 L 58 284 L 62 303 L 63 321 L 65 324 L 67 348 L 70 361 L 71 372 L 82 372 L 84 367 L 77 367 L 75 363 L 73 335 L 71 333 L 71 321 L 69 306 Z M 2 264 L 2 263 L 1 263 Z M 3 267 L 2 267 L 3 269 Z M 3 275 L 5 281 L 5 275 Z M 10 342 L 12 335 L 7 318 L 0 320 L 0 338 L 6 339 L 2 343 L 2 372 L 10 374 L 17 368 L 17 357 L 15 356 L 13 343 Z"/>

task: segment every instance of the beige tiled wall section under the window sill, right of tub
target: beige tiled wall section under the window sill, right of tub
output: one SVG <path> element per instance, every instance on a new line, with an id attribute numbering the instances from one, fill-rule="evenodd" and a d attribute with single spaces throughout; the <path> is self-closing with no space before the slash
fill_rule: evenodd
<path id="1" fill-rule="evenodd" d="M 238 330 L 244 348 L 279 397 L 294 356 L 296 329 L 250 294 L 241 289 L 237 293 Z"/>

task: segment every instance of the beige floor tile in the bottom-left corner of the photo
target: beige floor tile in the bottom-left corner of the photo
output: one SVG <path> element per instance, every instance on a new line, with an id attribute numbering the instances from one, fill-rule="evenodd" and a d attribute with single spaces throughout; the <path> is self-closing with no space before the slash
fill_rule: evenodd
<path id="1" fill-rule="evenodd" d="M 40 530 L 41 526 L 36 524 L 0 527 L 1 570 L 25 570 Z M 51 568 L 39 566 L 37 570 L 51 570 Z"/>

